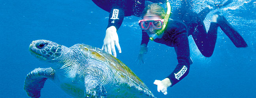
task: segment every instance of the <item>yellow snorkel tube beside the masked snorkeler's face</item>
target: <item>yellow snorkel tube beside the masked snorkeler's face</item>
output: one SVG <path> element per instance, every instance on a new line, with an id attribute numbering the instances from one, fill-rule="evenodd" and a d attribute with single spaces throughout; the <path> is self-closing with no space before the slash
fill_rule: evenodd
<path id="1" fill-rule="evenodd" d="M 163 24 L 163 27 L 161 30 L 157 31 L 153 36 L 151 36 L 149 39 L 150 40 L 154 40 L 155 38 L 157 38 L 157 36 L 159 36 L 160 34 L 162 34 L 164 32 L 164 29 L 168 23 L 168 20 L 169 20 L 169 16 L 171 14 L 171 5 L 170 5 L 170 2 L 169 0 L 166 0 L 166 5 L 167 5 L 167 12 L 166 12 L 166 15 L 164 16 L 164 24 Z"/>

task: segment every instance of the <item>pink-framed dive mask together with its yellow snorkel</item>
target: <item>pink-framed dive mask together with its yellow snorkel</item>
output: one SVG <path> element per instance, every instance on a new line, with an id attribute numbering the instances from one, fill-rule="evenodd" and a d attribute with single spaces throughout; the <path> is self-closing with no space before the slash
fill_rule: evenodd
<path id="1" fill-rule="evenodd" d="M 141 29 L 146 30 L 146 29 L 152 29 L 150 27 L 154 27 L 154 29 L 158 30 L 155 34 L 153 34 L 149 38 L 152 41 L 164 32 L 164 29 L 168 23 L 169 16 L 171 13 L 171 5 L 169 3 L 169 0 L 166 0 L 166 5 L 167 5 L 167 12 L 164 19 L 139 20 L 139 25 Z"/>

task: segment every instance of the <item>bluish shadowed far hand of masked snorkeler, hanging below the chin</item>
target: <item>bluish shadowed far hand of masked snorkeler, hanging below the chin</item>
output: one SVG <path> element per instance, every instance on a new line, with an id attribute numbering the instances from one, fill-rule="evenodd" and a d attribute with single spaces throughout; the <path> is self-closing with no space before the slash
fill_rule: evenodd
<path id="1" fill-rule="evenodd" d="M 143 61 L 144 54 L 147 54 L 147 45 L 146 44 L 141 44 L 141 47 L 139 49 L 139 55 L 138 55 L 138 58 L 136 60 L 138 65 L 144 64 L 144 61 Z"/>

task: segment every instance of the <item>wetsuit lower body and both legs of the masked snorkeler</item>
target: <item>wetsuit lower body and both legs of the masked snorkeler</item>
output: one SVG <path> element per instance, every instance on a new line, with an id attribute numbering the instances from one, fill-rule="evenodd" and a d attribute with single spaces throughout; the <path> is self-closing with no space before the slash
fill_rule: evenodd
<path id="1" fill-rule="evenodd" d="M 228 23 L 224 16 L 219 15 L 220 18 L 217 19 L 217 23 L 211 22 L 207 32 L 203 20 L 205 20 L 205 17 L 210 11 L 208 7 L 205 7 L 200 13 L 195 13 L 192 11 L 192 1 L 183 0 L 181 7 L 175 9 L 170 18 L 181 20 L 186 24 L 188 35 L 192 35 L 203 56 L 210 57 L 213 54 L 218 26 L 220 26 L 220 29 L 222 29 L 236 47 L 247 47 L 243 37 Z"/>

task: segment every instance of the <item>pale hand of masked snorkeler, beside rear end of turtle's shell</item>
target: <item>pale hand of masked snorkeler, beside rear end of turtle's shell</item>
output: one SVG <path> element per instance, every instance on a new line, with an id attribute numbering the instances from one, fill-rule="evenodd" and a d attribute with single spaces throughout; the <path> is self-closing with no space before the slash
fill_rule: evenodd
<path id="1" fill-rule="evenodd" d="M 171 86 L 171 81 L 169 78 L 165 78 L 164 80 L 155 80 L 154 84 L 157 85 L 157 91 L 164 93 L 164 95 L 167 94 L 167 87 Z"/>

